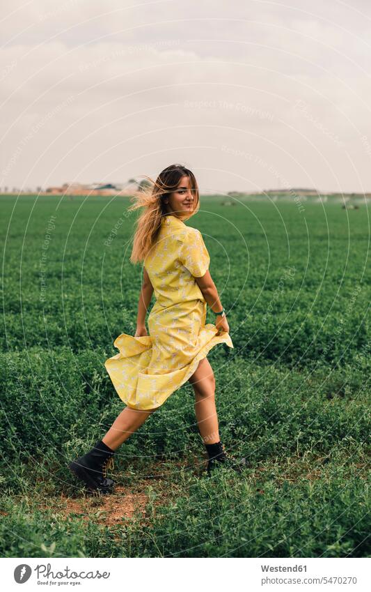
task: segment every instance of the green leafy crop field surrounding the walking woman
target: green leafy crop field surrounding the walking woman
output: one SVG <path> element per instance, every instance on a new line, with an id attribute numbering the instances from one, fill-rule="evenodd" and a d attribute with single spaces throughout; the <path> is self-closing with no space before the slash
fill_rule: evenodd
<path id="1" fill-rule="evenodd" d="M 118 450 L 116 494 L 86 499 L 67 464 L 123 409 L 103 364 L 135 331 L 135 214 L 0 197 L 1 556 L 371 556 L 368 209 L 221 202 L 187 224 L 234 344 L 208 356 L 221 439 L 248 469 L 205 478 L 187 384 Z"/>

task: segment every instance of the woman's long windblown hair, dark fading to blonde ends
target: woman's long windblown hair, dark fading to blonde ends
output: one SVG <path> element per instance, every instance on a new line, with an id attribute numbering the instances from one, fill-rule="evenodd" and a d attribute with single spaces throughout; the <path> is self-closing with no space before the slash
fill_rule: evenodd
<path id="1" fill-rule="evenodd" d="M 143 186 L 134 191 L 130 199 L 134 205 L 129 206 L 128 211 L 143 208 L 141 215 L 136 221 L 136 232 L 130 261 L 139 263 L 143 261 L 157 241 L 157 235 L 161 227 L 161 218 L 166 215 L 166 204 L 164 198 L 169 197 L 171 192 L 175 191 L 182 177 L 189 178 L 189 187 L 194 196 L 194 208 L 187 219 L 196 214 L 200 208 L 200 197 L 196 177 L 183 165 L 170 165 L 166 167 L 156 181 L 143 175 L 149 182 L 143 183 Z"/>

